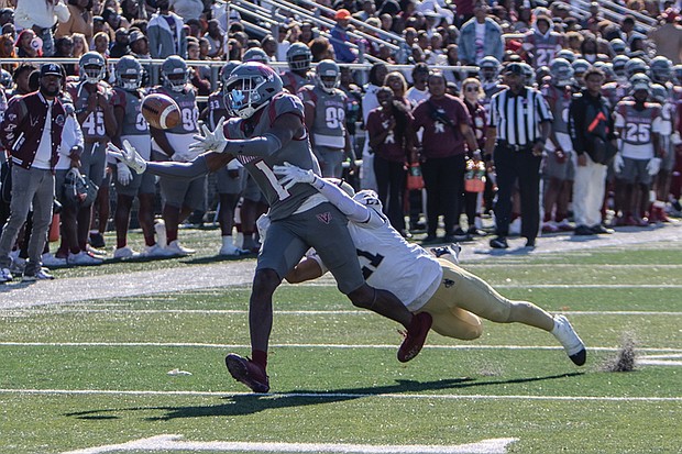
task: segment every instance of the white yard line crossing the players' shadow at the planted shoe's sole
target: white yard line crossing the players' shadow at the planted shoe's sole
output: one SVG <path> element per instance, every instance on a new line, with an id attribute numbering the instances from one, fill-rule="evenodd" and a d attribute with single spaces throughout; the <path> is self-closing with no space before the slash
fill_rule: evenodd
<path id="1" fill-rule="evenodd" d="M 2 388 L 0 394 L 6 395 L 103 395 L 103 396 L 188 396 L 188 397 L 229 397 L 244 396 L 251 392 L 221 392 L 221 391 L 153 391 L 153 390 L 114 390 L 114 389 L 11 389 Z M 605 401 L 605 402 L 682 402 L 682 396 L 532 396 L 532 395 L 440 395 L 440 394 L 384 394 L 384 392 L 273 392 L 262 396 L 276 398 L 318 398 L 318 399 L 360 399 L 376 397 L 383 399 L 438 399 L 438 400 L 557 400 L 557 401 Z"/>

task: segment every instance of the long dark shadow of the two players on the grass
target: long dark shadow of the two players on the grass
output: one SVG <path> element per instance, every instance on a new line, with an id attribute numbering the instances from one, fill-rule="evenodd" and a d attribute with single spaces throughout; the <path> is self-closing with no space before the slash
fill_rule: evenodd
<path id="1" fill-rule="evenodd" d="M 526 384 L 561 378 L 578 377 L 582 372 L 570 374 L 549 375 L 543 377 L 514 378 L 508 380 L 481 380 L 475 378 L 451 378 L 433 381 L 398 380 L 393 385 L 373 386 L 362 388 L 346 388 L 334 390 L 295 390 L 282 394 L 244 394 L 227 396 L 226 403 L 210 406 L 185 406 L 185 407 L 132 407 L 119 409 L 99 409 L 66 413 L 67 417 L 87 420 L 108 420 L 118 417 L 106 417 L 102 413 L 136 412 L 136 411 L 164 411 L 165 416 L 145 418 L 146 421 L 169 421 L 182 418 L 202 417 L 237 417 L 257 413 L 264 410 L 277 410 L 282 408 L 305 407 L 310 405 L 343 402 L 349 400 L 375 397 L 381 395 L 410 394 L 435 391 L 444 389 L 465 389 L 497 385 Z M 438 395 L 435 394 L 433 397 Z"/>

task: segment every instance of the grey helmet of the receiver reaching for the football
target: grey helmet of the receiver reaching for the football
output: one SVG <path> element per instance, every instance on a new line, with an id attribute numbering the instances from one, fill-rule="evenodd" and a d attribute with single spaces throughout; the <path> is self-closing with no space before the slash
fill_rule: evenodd
<path id="1" fill-rule="evenodd" d="M 251 118 L 283 90 L 277 73 L 257 62 L 239 65 L 222 88 L 228 112 L 242 119 Z"/>

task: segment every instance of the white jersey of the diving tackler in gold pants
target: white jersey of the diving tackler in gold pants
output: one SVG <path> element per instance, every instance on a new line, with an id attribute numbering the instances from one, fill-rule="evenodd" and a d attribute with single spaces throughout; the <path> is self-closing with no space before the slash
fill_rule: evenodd
<path id="1" fill-rule="evenodd" d="M 348 223 L 365 280 L 393 292 L 410 311 L 421 309 L 440 284 L 440 264 L 420 246 L 407 243 L 383 214 L 369 211 L 367 222 Z"/>

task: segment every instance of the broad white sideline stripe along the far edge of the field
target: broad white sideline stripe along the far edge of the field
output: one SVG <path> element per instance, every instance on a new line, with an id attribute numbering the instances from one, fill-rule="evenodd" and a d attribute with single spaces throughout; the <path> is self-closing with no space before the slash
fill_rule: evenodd
<path id="1" fill-rule="evenodd" d="M 650 243 L 651 245 L 656 244 L 664 247 L 669 243 L 682 242 L 682 223 L 650 228 L 619 228 L 613 235 L 575 237 L 566 234 L 553 234 L 539 237 L 537 247 L 534 250 L 526 247 L 515 248 L 515 243 L 524 243 L 522 239 L 512 239 L 509 250 L 491 250 L 487 246 L 488 240 L 490 236 L 486 236 L 477 239 L 472 243 L 462 244 L 460 258 L 464 266 L 468 263 L 476 264 L 491 257 L 514 258 L 515 256 L 571 251 L 586 251 L 588 253 L 588 250 L 605 246 L 626 248 L 629 245 Z M 204 288 L 245 286 L 251 284 L 255 270 L 255 259 L 184 266 L 179 269 L 183 270 L 182 279 L 178 279 L 178 268 L 169 268 L 111 274 L 106 275 L 105 279 L 102 279 L 102 276 L 78 277 L 37 281 L 25 287 L 12 286 L 11 289 L 0 288 L 0 310 Z M 324 276 L 318 279 L 317 283 L 318 285 L 333 285 L 334 280 L 332 277 Z M 502 288 L 505 286 L 497 287 Z M 642 286 L 635 287 L 639 288 Z M 657 285 L 654 287 L 661 286 Z"/>

